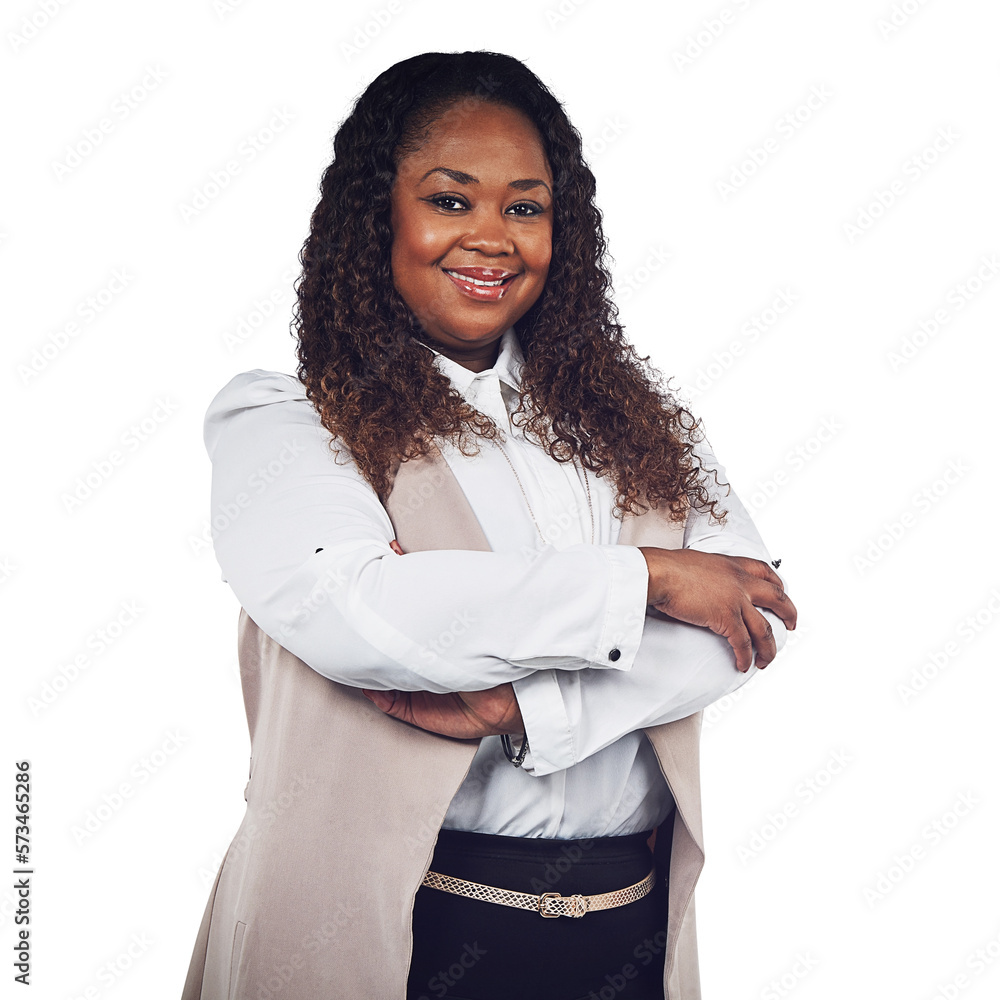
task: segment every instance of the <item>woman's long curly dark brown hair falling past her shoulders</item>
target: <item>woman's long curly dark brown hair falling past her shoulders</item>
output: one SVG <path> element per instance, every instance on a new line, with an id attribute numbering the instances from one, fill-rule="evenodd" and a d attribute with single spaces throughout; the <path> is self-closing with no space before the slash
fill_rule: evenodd
<path id="1" fill-rule="evenodd" d="M 690 505 L 724 523 L 728 512 L 716 511 L 693 454 L 701 421 L 617 322 L 580 133 L 545 84 L 501 53 L 404 59 L 368 86 L 337 130 L 299 254 L 292 320 L 297 375 L 324 427 L 383 500 L 399 462 L 426 454 L 428 437 L 450 439 L 463 454 L 476 454 L 481 438 L 502 437 L 419 343 L 426 334 L 395 289 L 390 264 L 396 168 L 442 114 L 468 98 L 525 114 L 555 182 L 549 280 L 515 324 L 525 364 L 512 420 L 556 461 L 575 456 L 609 475 L 620 516 L 640 513 L 644 502 L 679 521 Z"/>

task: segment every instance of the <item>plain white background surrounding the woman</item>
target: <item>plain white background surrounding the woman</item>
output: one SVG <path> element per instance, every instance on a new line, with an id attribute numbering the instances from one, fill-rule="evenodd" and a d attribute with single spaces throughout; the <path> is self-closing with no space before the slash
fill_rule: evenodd
<path id="1" fill-rule="evenodd" d="M 800 610 L 706 712 L 706 998 L 997 996 L 1000 9 L 49 2 L 0 23 L 0 784 L 31 760 L 36 995 L 180 993 L 249 756 L 202 417 L 239 371 L 294 372 L 290 276 L 354 98 L 489 48 L 565 102 L 621 319 Z"/>

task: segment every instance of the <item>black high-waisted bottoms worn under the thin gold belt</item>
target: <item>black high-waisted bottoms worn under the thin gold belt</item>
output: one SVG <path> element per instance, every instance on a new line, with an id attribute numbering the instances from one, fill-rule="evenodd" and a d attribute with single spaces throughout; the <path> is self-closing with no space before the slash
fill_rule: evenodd
<path id="1" fill-rule="evenodd" d="M 593 895 L 649 874 L 649 835 L 550 840 L 441 830 L 430 867 L 517 892 Z M 421 886 L 407 1000 L 663 1000 L 666 875 L 657 870 L 643 899 L 583 917 L 545 918 Z"/>

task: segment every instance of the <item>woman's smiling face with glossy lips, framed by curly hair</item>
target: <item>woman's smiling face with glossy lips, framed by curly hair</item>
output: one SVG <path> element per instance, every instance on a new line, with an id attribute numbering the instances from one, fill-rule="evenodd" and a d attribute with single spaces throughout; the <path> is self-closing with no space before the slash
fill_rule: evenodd
<path id="1" fill-rule="evenodd" d="M 399 164 L 392 232 L 393 283 L 433 346 L 489 368 L 552 258 L 552 173 L 531 121 L 474 98 L 453 105 Z"/>

